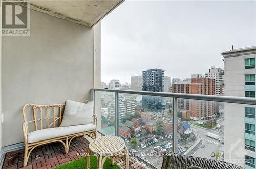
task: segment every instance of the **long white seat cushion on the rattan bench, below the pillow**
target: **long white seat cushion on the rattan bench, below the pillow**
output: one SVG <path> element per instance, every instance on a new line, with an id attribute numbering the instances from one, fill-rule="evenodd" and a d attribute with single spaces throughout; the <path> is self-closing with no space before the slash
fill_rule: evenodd
<path id="1" fill-rule="evenodd" d="M 28 143 L 39 142 L 46 139 L 76 134 L 94 129 L 94 124 L 83 124 L 76 126 L 56 127 L 32 131 L 31 133 L 28 134 Z"/>

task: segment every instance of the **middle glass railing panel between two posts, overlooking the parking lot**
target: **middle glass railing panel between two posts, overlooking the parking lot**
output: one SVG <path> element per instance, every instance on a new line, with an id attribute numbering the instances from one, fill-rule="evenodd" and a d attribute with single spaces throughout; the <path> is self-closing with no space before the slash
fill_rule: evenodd
<path id="1" fill-rule="evenodd" d="M 163 153 L 172 151 L 172 98 L 118 96 L 119 136 L 132 155 L 161 168 Z"/>

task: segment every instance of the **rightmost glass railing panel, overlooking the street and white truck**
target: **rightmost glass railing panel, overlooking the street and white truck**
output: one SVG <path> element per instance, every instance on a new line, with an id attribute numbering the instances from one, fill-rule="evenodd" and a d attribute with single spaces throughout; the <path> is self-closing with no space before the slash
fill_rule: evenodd
<path id="1" fill-rule="evenodd" d="M 248 167 L 246 155 L 256 158 L 255 106 L 190 99 L 177 102 L 177 117 L 181 118 L 178 153 L 242 167 Z"/>

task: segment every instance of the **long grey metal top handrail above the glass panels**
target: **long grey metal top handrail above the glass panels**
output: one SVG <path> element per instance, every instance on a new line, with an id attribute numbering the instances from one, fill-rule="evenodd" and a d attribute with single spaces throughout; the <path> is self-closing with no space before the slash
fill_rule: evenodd
<path id="1" fill-rule="evenodd" d="M 199 94 L 184 94 L 184 93 L 169 93 L 169 92 L 147 92 L 147 91 L 98 89 L 98 88 L 92 88 L 92 90 L 102 91 L 102 92 L 118 92 L 118 93 L 137 94 L 137 95 L 150 95 L 150 96 L 172 97 L 172 98 L 180 98 L 180 99 L 193 99 L 193 100 L 215 101 L 215 102 L 224 102 L 224 103 L 256 105 L 256 98 L 248 98 L 248 97 L 199 95 Z"/>

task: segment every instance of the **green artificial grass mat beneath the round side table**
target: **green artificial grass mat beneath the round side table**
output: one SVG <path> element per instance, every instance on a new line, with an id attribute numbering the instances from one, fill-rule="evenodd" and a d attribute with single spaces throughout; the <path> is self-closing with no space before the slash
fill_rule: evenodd
<path id="1" fill-rule="evenodd" d="M 90 156 L 90 169 L 96 169 L 97 168 L 97 157 L 96 156 Z M 80 158 L 78 160 L 72 161 L 68 164 L 65 165 L 61 165 L 59 167 L 57 167 L 56 169 L 70 169 L 70 168 L 86 168 L 86 157 Z M 103 168 L 107 169 L 107 168 L 111 168 L 111 169 L 119 169 L 119 166 L 117 166 L 116 164 L 111 165 L 111 160 L 109 158 L 106 159 Z"/>

